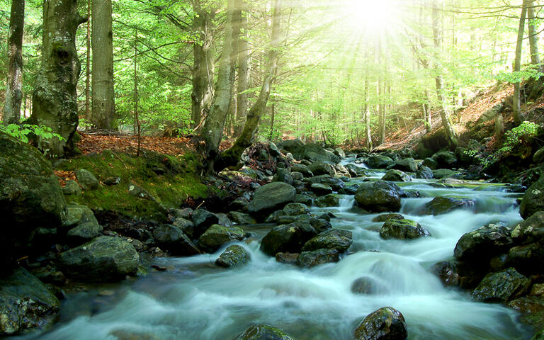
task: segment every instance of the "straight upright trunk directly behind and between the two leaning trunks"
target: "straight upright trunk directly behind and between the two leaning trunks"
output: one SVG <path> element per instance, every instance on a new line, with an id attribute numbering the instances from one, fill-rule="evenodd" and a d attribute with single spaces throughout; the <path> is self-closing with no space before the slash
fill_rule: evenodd
<path id="1" fill-rule="evenodd" d="M 238 137 L 242 132 L 242 127 L 246 120 L 247 111 L 247 94 L 245 91 L 249 89 L 249 44 L 247 43 L 248 28 L 247 28 L 247 13 L 243 13 L 247 9 L 246 1 L 242 4 L 242 21 L 240 23 L 241 37 L 238 42 L 238 89 L 237 89 L 237 106 L 236 106 L 236 124 L 234 125 L 234 135 Z"/>

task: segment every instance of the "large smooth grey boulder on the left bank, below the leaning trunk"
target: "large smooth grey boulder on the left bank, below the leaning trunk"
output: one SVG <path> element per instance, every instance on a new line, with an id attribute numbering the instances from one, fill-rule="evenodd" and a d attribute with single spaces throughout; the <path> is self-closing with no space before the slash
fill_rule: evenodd
<path id="1" fill-rule="evenodd" d="M 283 182 L 273 182 L 261 186 L 255 191 L 253 200 L 248 205 L 249 212 L 262 213 L 283 208 L 295 200 L 296 190 Z"/>

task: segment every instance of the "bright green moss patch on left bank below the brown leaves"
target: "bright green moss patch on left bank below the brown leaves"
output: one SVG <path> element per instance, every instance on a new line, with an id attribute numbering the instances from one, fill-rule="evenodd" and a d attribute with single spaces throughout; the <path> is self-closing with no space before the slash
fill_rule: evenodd
<path id="1" fill-rule="evenodd" d="M 119 176 L 120 183 L 100 186 L 95 191 L 84 191 L 81 196 L 67 196 L 67 200 L 87 205 L 92 210 L 118 212 L 141 219 L 164 220 L 165 208 L 179 208 L 188 197 L 208 197 L 208 187 L 196 174 L 198 160 L 188 153 L 175 157 L 156 152 L 144 152 L 135 157 L 123 152 L 104 150 L 60 162 L 55 169 L 75 171 L 86 169 L 99 181 Z M 131 184 L 141 186 L 156 201 L 137 198 L 128 193 Z"/>

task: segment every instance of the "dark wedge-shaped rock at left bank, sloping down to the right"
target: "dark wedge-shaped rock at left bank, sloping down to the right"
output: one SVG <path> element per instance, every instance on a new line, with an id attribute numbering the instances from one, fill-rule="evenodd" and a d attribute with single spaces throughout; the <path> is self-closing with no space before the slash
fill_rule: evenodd
<path id="1" fill-rule="evenodd" d="M 153 237 L 157 244 L 168 250 L 174 256 L 191 256 L 200 254 L 191 239 L 175 225 L 159 225 L 153 231 Z"/>

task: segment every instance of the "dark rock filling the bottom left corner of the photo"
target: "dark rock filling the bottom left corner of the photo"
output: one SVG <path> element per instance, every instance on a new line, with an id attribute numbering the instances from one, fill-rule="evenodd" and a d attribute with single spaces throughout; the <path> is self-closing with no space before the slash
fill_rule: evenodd
<path id="1" fill-rule="evenodd" d="M 0 279 L 0 336 L 50 326 L 59 312 L 57 297 L 25 269 Z"/>

